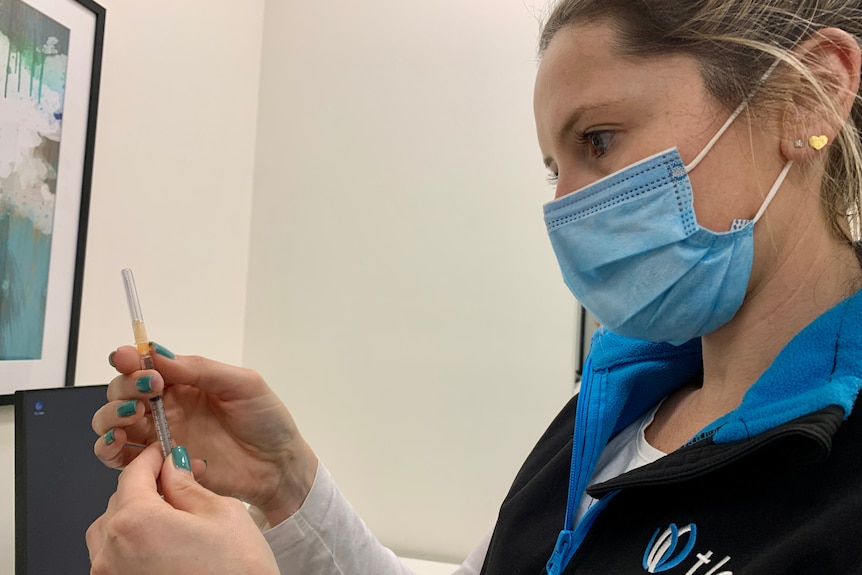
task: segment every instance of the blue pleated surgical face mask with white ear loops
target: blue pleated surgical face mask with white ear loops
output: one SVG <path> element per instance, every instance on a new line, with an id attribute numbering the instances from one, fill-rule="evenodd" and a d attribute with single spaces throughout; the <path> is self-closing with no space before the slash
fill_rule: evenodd
<path id="1" fill-rule="evenodd" d="M 757 215 L 735 220 L 726 232 L 697 223 L 688 173 L 744 107 L 689 165 L 672 148 L 545 205 L 563 278 L 607 329 L 678 345 L 715 331 L 739 310 L 754 258 L 754 224 L 792 162 Z"/>

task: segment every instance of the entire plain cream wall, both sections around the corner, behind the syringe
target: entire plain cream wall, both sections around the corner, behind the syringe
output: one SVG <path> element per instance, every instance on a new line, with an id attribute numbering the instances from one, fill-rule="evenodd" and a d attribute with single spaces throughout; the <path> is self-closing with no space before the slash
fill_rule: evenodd
<path id="1" fill-rule="evenodd" d="M 460 561 L 571 393 L 528 3 L 103 2 L 78 383 L 132 267 L 154 339 L 261 371 L 385 544 Z"/>

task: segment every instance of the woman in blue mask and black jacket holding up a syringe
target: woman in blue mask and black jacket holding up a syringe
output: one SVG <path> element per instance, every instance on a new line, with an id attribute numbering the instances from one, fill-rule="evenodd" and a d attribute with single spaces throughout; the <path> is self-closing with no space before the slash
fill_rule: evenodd
<path id="1" fill-rule="evenodd" d="M 860 37 L 838 0 L 556 7 L 545 217 L 607 329 L 460 574 L 862 573 Z M 94 573 L 405 572 L 257 374 L 155 351 L 155 372 L 112 354 L 94 417 L 126 468 Z M 154 441 L 162 391 L 207 464 L 126 445 Z"/>

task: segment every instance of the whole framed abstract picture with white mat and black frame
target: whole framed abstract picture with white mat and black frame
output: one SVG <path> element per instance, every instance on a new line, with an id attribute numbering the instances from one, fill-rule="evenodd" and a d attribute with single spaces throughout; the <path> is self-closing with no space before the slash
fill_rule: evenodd
<path id="1" fill-rule="evenodd" d="M 73 385 L 105 10 L 0 1 L 0 404 Z"/>

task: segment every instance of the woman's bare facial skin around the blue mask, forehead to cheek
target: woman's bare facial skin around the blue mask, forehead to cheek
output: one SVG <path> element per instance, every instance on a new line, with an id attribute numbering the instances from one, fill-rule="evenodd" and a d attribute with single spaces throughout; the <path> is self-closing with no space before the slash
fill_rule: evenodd
<path id="1" fill-rule="evenodd" d="M 556 197 L 676 146 L 691 162 L 730 116 L 706 91 L 694 60 L 634 58 L 606 22 L 557 33 L 539 65 L 534 112 Z M 774 130 L 743 113 L 690 178 L 698 223 L 726 231 L 751 218 L 784 164 Z"/>

